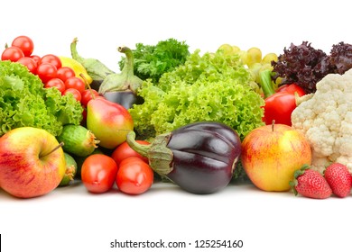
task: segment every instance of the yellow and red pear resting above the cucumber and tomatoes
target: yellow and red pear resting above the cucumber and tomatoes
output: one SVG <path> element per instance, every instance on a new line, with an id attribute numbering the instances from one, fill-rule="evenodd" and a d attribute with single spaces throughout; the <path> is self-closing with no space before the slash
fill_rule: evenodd
<path id="1" fill-rule="evenodd" d="M 87 105 L 87 128 L 100 141 L 99 146 L 116 148 L 134 130 L 134 121 L 122 105 L 96 98 Z"/>

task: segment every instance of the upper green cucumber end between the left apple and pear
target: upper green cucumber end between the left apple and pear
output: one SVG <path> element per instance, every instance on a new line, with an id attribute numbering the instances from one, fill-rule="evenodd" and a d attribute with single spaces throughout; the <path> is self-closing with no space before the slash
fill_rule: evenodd
<path id="1" fill-rule="evenodd" d="M 73 124 L 63 126 L 57 139 L 59 142 L 63 142 L 62 148 L 65 152 L 78 157 L 87 157 L 97 148 L 99 143 L 91 130 Z"/>

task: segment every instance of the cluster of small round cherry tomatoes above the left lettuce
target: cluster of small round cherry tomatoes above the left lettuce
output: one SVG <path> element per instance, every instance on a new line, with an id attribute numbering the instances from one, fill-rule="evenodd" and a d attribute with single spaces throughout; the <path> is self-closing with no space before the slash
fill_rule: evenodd
<path id="1" fill-rule="evenodd" d="M 14 38 L 11 46 L 6 46 L 1 60 L 11 60 L 26 66 L 32 74 L 41 78 L 44 87 L 56 87 L 62 95 L 73 94 L 75 99 L 87 106 L 92 93 L 98 95 L 96 90 L 86 89 L 84 81 L 77 77 L 70 67 L 62 67 L 61 60 L 54 54 L 42 57 L 32 54 L 34 43 L 28 36 Z"/>

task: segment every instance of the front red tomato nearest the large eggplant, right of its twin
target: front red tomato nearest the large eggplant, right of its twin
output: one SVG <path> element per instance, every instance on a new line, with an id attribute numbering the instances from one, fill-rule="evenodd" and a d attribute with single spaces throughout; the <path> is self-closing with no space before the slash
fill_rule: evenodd
<path id="1" fill-rule="evenodd" d="M 127 194 L 145 193 L 153 184 L 152 168 L 139 157 L 127 157 L 121 161 L 116 175 L 118 189 Z"/>

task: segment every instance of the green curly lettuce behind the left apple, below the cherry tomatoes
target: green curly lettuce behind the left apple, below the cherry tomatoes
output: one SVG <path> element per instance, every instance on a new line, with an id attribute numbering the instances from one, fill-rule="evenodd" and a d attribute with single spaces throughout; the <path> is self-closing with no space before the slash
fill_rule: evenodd
<path id="1" fill-rule="evenodd" d="M 83 108 L 73 95 L 44 88 L 41 79 L 20 63 L 0 61 L 0 136 L 30 126 L 58 136 L 65 124 L 79 124 Z"/>

